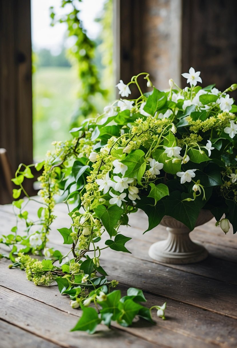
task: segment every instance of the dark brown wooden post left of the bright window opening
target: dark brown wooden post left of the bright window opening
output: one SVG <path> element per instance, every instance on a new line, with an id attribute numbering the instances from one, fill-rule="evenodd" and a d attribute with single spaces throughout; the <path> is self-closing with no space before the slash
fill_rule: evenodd
<path id="1" fill-rule="evenodd" d="M 0 0 L 0 147 L 13 172 L 33 161 L 30 5 Z M 10 203 L 1 191 L 0 203 Z"/>

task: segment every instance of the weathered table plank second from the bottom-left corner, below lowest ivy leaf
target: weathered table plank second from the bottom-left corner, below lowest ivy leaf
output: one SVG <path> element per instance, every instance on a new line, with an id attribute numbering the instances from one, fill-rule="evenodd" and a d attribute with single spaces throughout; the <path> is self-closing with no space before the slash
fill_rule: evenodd
<path id="1" fill-rule="evenodd" d="M 85 332 L 69 332 L 75 326 L 77 317 L 27 296 L 0 287 L 0 317 L 23 330 L 34 333 L 62 347 L 90 346 L 101 348 L 105 343 L 113 347 L 129 346 L 164 347 L 141 339 L 123 330 L 109 330 L 98 326 L 98 333 L 88 337 Z M 139 330 L 138 330 L 139 331 Z M 166 333 L 167 334 L 167 333 Z"/>

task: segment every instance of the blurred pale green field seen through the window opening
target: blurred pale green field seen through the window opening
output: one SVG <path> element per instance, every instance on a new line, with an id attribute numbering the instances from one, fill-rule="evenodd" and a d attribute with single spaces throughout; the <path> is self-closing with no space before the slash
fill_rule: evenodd
<path id="1" fill-rule="evenodd" d="M 44 67 L 33 74 L 34 160 L 45 158 L 52 141 L 70 139 L 71 117 L 79 88 L 73 68 Z"/>

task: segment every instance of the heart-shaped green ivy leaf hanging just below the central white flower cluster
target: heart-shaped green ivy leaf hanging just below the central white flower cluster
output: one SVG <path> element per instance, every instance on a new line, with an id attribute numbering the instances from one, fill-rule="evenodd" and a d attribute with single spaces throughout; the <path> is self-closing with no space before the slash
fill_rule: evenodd
<path id="1" fill-rule="evenodd" d="M 94 211 L 96 216 L 101 220 L 109 236 L 112 237 L 115 232 L 114 226 L 118 223 L 123 209 L 117 205 L 112 205 L 109 208 L 106 208 L 104 205 L 99 205 Z"/>

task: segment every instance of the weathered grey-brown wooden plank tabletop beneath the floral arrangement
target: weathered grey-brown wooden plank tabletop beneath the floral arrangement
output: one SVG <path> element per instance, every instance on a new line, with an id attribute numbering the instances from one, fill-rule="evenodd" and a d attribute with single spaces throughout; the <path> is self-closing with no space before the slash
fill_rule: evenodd
<path id="1" fill-rule="evenodd" d="M 29 210 L 36 216 L 36 206 Z M 50 232 L 50 246 L 62 252 L 57 228 L 70 226 L 66 207 L 56 206 Z M 10 205 L 0 206 L 0 234 L 8 234 L 15 224 Z M 131 214 L 131 227 L 121 232 L 132 237 L 126 246 L 132 254 L 108 251 L 101 266 L 113 275 L 125 293 L 130 286 L 144 290 L 147 306 L 167 302 L 166 321 L 156 317 L 156 325 L 134 323 L 132 327 L 116 324 L 109 330 L 99 325 L 94 335 L 69 332 L 80 317 L 69 299 L 61 296 L 57 286 L 35 286 L 25 272 L 9 269 L 8 260 L 0 260 L 0 347 L 237 347 L 236 263 L 237 236 L 225 236 L 210 221 L 191 232 L 191 238 L 209 251 L 206 260 L 190 265 L 167 265 L 151 260 L 149 246 L 166 238 L 165 228 L 158 226 L 142 235 L 147 227 L 143 212 Z M 107 262 L 109 260 L 109 262 Z"/>

